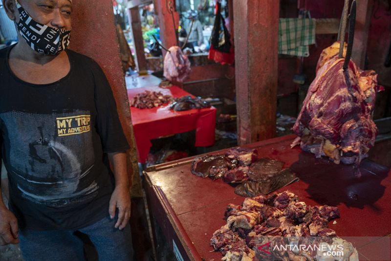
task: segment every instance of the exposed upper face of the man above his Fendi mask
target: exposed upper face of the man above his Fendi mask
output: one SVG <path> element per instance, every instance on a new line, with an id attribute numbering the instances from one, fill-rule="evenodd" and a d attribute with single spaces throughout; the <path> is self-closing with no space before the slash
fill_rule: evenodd
<path id="1" fill-rule="evenodd" d="M 38 23 L 59 29 L 71 29 L 71 0 L 18 0 L 18 2 Z M 16 16 L 18 22 L 17 10 Z"/>

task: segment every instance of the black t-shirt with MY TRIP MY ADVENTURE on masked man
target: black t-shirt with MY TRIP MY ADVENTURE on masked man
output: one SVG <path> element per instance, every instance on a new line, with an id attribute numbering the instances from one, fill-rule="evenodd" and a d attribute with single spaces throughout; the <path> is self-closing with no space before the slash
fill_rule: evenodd
<path id="1" fill-rule="evenodd" d="M 129 148 L 99 65 L 66 50 L 70 71 L 30 84 L 0 50 L 0 142 L 10 210 L 23 228 L 78 229 L 108 215 L 113 175 L 107 154 Z"/>

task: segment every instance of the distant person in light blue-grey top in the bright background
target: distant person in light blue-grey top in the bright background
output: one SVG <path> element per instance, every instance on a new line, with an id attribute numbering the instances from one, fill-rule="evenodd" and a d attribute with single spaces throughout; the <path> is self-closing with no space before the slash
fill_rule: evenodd
<path id="1" fill-rule="evenodd" d="M 185 14 L 185 18 L 187 19 L 185 20 L 183 26 L 186 32 L 190 34 L 187 42 L 193 45 L 193 47 L 201 46 L 204 42 L 204 36 L 202 34 L 202 24 L 197 19 L 197 15 L 197 11 L 188 10 Z"/>

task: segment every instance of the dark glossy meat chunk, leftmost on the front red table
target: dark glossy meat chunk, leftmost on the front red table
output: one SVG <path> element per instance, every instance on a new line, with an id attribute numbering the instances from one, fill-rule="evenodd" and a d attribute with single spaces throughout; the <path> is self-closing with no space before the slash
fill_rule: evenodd
<path id="1" fill-rule="evenodd" d="M 222 155 L 197 157 L 192 163 L 192 173 L 199 177 L 220 178 L 228 171 L 230 165 Z"/>

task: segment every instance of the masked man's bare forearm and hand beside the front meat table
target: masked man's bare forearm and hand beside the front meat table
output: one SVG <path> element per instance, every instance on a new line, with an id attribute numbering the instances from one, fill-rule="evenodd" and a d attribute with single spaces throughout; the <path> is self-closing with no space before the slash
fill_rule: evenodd
<path id="1" fill-rule="evenodd" d="M 108 153 L 109 160 L 114 170 L 115 189 L 111 195 L 109 203 L 110 218 L 115 216 L 115 210 L 118 208 L 118 220 L 115 228 L 122 230 L 130 218 L 130 192 L 129 180 L 126 167 L 126 153 L 114 152 Z"/>

